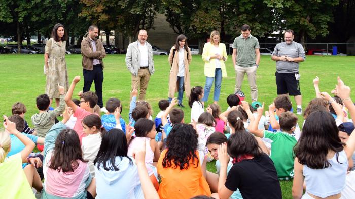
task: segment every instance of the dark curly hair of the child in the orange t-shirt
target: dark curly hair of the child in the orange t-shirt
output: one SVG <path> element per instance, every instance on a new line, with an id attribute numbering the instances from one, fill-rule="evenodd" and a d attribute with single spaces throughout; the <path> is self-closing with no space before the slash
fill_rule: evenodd
<path id="1" fill-rule="evenodd" d="M 190 160 L 196 167 L 199 164 L 197 150 L 197 133 L 189 124 L 175 124 L 166 141 L 167 152 L 163 159 L 163 167 L 179 167 L 188 169 Z M 197 161 L 195 161 L 197 160 Z"/>

